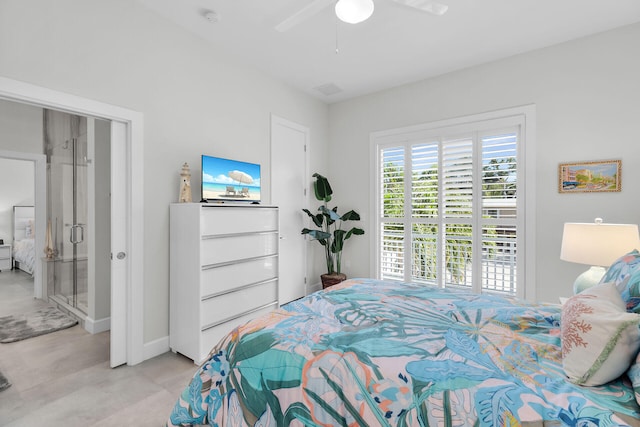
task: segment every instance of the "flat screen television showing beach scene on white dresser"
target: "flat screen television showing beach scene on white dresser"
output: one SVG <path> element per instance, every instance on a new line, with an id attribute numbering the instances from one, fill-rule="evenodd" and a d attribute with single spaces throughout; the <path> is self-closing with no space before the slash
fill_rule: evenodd
<path id="1" fill-rule="evenodd" d="M 202 155 L 203 202 L 260 202 L 260 165 Z"/>

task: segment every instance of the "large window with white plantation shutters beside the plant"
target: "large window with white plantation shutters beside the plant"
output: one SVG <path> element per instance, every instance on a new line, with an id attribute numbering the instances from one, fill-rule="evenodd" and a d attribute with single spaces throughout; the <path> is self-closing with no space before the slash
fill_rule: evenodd
<path id="1" fill-rule="evenodd" d="M 525 296 L 525 118 L 373 135 L 376 277 Z"/>

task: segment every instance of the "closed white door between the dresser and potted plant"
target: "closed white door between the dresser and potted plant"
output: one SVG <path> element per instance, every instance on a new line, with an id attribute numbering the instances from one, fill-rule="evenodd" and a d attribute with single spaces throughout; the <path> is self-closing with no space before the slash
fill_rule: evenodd
<path id="1" fill-rule="evenodd" d="M 300 231 L 304 227 L 307 206 L 306 146 L 309 128 L 271 116 L 271 203 L 279 208 L 280 305 L 303 297 L 306 286 L 306 243 Z"/>

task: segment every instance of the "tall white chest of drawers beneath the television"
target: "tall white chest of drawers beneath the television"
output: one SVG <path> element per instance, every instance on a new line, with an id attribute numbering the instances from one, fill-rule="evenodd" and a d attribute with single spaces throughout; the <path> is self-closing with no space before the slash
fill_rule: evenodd
<path id="1" fill-rule="evenodd" d="M 169 346 L 195 363 L 235 326 L 278 307 L 278 209 L 170 207 Z"/>

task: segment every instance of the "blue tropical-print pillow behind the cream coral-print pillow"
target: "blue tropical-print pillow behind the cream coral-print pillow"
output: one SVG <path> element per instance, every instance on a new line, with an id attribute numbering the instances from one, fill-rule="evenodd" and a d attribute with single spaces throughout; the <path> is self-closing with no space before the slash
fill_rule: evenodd
<path id="1" fill-rule="evenodd" d="M 640 313 L 640 252 L 632 250 L 618 258 L 600 283 L 615 282 L 627 311 Z"/>

